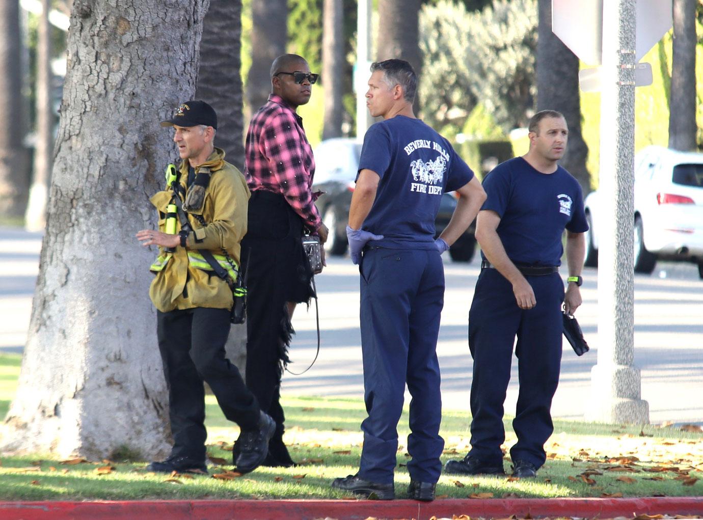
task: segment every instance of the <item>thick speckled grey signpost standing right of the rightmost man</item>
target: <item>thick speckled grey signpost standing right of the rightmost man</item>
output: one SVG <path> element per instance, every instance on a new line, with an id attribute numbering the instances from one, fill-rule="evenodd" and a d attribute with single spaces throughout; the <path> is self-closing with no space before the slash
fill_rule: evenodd
<path id="1" fill-rule="evenodd" d="M 603 1 L 598 248 L 598 364 L 589 420 L 646 424 L 634 366 L 634 148 L 636 0 Z"/>

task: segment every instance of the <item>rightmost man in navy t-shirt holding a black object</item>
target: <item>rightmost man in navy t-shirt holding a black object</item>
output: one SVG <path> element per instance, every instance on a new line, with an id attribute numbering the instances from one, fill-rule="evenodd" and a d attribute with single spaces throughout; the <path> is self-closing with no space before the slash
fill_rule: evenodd
<path id="1" fill-rule="evenodd" d="M 513 475 L 535 476 L 546 460 L 562 354 L 561 307 L 563 302 L 573 314 L 581 305 L 588 230 L 581 186 L 557 164 L 567 138 L 560 112 L 538 112 L 529 124 L 529 152 L 484 179 L 488 199 L 476 227 L 484 261 L 469 312 L 471 450 L 463 460 L 447 462 L 448 473 L 503 474 L 503 403 L 516 335 L 520 394 L 512 421 Z M 566 293 L 558 270 L 565 229 Z"/>

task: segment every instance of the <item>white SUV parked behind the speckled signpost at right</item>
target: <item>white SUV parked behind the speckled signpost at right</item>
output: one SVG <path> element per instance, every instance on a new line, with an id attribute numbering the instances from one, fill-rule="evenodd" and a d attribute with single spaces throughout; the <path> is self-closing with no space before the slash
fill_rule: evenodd
<path id="1" fill-rule="evenodd" d="M 599 193 L 586 197 L 586 266 L 598 265 Z M 703 278 L 703 153 L 648 146 L 635 155 L 635 271 L 690 261 Z"/>

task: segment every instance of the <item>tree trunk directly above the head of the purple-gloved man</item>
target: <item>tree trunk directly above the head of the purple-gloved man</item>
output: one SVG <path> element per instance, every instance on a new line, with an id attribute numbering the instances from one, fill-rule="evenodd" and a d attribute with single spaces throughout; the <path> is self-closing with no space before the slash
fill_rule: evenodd
<path id="1" fill-rule="evenodd" d="M 420 53 L 418 17 L 420 0 L 378 0 L 378 60 L 400 58 L 422 73 L 423 57 Z M 415 114 L 420 107 L 415 96 Z"/>

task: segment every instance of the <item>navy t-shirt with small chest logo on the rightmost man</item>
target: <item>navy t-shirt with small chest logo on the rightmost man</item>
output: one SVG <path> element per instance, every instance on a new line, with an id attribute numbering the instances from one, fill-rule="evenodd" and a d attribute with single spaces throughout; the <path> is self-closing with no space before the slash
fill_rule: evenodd
<path id="1" fill-rule="evenodd" d="M 501 217 L 498 236 L 514 264 L 559 266 L 564 229 L 588 230 L 579 181 L 562 167 L 543 174 L 515 157 L 498 164 L 483 187 L 488 198 L 481 209 Z"/>

